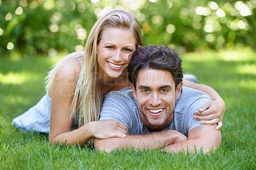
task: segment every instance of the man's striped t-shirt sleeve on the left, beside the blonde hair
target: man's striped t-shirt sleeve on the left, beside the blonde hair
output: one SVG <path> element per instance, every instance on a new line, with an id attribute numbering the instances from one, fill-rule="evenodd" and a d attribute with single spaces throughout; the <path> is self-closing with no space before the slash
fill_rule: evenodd
<path id="1" fill-rule="evenodd" d="M 100 111 L 100 120 L 119 121 L 131 133 L 132 123 L 136 121 L 135 116 L 136 105 L 131 99 L 113 92 L 106 95 Z"/>

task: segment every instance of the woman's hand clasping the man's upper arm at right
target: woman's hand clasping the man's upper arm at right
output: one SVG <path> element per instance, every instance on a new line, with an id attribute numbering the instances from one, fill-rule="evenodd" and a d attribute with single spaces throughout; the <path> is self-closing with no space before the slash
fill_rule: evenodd
<path id="1" fill-rule="evenodd" d="M 225 102 L 222 99 L 206 102 L 198 111 L 195 111 L 193 118 L 200 120 L 201 124 L 214 125 L 219 130 L 222 127 L 222 120 L 225 112 Z"/>

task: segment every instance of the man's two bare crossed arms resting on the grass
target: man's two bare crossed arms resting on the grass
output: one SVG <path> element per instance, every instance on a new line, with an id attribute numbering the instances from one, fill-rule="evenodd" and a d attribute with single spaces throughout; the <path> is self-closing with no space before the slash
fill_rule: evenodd
<path id="1" fill-rule="evenodd" d="M 94 139 L 94 146 L 100 151 L 111 151 L 118 148 L 134 148 L 140 150 L 157 150 L 179 152 L 202 150 L 205 152 L 216 150 L 221 144 L 221 132 L 214 125 L 202 125 L 192 128 L 188 137 L 176 130 L 165 130 L 144 135 L 127 135 L 125 138 L 111 137 L 109 139 Z"/>

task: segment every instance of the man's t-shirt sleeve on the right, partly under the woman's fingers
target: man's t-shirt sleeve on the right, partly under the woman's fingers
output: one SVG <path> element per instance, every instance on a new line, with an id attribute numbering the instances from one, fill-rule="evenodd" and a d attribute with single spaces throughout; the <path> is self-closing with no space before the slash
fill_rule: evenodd
<path id="1" fill-rule="evenodd" d="M 209 98 L 207 95 L 202 95 L 200 98 L 198 98 L 195 102 L 193 102 L 191 105 L 189 105 L 187 110 L 187 116 L 186 116 L 186 123 L 187 125 L 187 132 L 189 132 L 192 128 L 202 126 L 200 124 L 199 120 L 193 119 L 193 112 L 198 111 L 204 105 L 206 102 L 211 101 L 211 98 Z"/>

